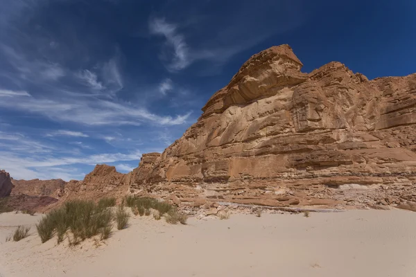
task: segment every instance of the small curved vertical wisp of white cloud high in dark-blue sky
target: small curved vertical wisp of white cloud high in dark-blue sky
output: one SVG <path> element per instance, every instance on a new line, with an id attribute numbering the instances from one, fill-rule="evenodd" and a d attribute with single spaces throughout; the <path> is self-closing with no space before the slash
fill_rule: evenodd
<path id="1" fill-rule="evenodd" d="M 191 64 L 189 47 L 184 35 L 177 32 L 175 24 L 169 24 L 162 18 L 155 18 L 150 20 L 149 30 L 153 35 L 163 35 L 166 39 L 166 46 L 173 48 L 173 58 L 168 64 L 169 70 L 179 71 Z"/>

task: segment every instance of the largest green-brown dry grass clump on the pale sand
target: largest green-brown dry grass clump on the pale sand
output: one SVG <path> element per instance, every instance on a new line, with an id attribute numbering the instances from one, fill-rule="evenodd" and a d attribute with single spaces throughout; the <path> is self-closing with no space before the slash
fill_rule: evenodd
<path id="1" fill-rule="evenodd" d="M 64 240 L 64 235 L 70 232 L 70 243 L 78 244 L 94 235 L 108 233 L 108 230 L 111 230 L 113 215 L 112 211 L 104 206 L 82 200 L 65 203 L 61 208 L 43 217 L 36 225 L 40 240 L 44 243 L 56 233 L 60 243 Z"/>

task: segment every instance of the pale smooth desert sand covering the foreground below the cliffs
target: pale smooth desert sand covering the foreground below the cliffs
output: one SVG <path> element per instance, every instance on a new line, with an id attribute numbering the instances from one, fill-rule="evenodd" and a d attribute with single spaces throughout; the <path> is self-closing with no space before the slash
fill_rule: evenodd
<path id="1" fill-rule="evenodd" d="M 99 247 L 41 244 L 42 215 L 0 215 L 0 276 L 416 276 L 416 213 L 232 215 L 187 226 L 132 217 Z M 33 226 L 5 242 L 18 224 Z"/>

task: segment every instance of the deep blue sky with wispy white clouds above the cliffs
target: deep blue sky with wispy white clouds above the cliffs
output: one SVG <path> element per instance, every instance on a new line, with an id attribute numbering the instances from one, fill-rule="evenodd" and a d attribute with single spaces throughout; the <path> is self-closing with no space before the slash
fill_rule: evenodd
<path id="1" fill-rule="evenodd" d="M 339 2 L 339 3 L 338 3 Z M 416 71 L 416 1 L 0 0 L 0 168 L 83 179 L 162 152 L 245 60 Z"/>

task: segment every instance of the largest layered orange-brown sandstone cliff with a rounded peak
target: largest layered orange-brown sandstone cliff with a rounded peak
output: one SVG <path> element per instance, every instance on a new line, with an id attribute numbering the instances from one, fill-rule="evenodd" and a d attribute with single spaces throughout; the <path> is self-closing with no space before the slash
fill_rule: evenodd
<path id="1" fill-rule="evenodd" d="M 339 62 L 301 68 L 288 45 L 253 55 L 182 138 L 144 156 L 132 191 L 182 204 L 415 201 L 416 74 L 369 81 Z"/>

